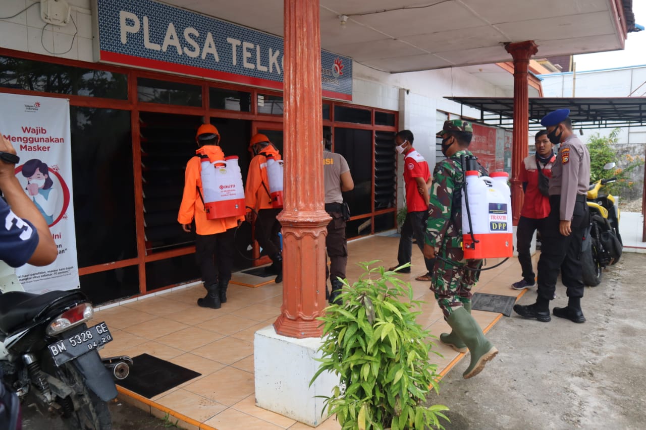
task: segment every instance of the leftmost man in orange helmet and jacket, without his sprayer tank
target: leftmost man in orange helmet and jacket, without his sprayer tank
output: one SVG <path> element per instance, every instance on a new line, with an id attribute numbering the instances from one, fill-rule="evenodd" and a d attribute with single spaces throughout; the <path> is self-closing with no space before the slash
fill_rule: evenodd
<path id="1" fill-rule="evenodd" d="M 207 290 L 207 295 L 198 299 L 198 306 L 220 309 L 222 303 L 227 302 L 227 287 L 233 266 L 233 241 L 238 221 L 244 220 L 244 216 L 216 220 L 206 217 L 200 176 L 202 157 L 216 161 L 224 159 L 224 152 L 218 146 L 220 132 L 214 125 L 201 125 L 195 141 L 199 148 L 195 151 L 196 156 L 189 159 L 186 165 L 184 192 L 177 220 L 185 232 L 191 231 L 191 223 L 195 220 L 195 258 Z"/>

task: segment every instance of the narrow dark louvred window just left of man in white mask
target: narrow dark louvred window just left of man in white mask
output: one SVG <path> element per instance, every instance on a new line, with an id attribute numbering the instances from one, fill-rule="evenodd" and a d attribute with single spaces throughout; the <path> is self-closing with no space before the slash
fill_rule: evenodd
<path id="1" fill-rule="evenodd" d="M 375 132 L 375 210 L 395 207 L 395 133 Z"/>

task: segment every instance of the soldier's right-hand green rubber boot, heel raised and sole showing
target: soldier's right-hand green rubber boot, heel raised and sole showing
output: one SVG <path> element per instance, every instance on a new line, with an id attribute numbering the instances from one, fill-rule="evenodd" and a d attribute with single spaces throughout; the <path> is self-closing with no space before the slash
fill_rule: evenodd
<path id="1" fill-rule="evenodd" d="M 495 357 L 498 350 L 485 338 L 485 334 L 483 334 L 480 325 L 466 309 L 455 309 L 446 322 L 448 322 L 448 325 L 451 326 L 453 331 L 464 341 L 471 353 L 471 363 L 462 374 L 463 378 L 468 379 L 477 375 L 485 368 L 486 362 Z"/>

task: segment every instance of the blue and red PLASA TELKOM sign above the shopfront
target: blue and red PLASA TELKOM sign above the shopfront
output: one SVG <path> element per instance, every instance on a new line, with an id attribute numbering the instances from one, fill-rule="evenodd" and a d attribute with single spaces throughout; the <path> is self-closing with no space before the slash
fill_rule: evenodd
<path id="1" fill-rule="evenodd" d="M 94 0 L 96 61 L 283 88 L 283 39 L 151 0 Z M 95 54 L 95 55 L 96 55 Z M 321 51 L 324 97 L 352 100 L 352 60 Z"/>

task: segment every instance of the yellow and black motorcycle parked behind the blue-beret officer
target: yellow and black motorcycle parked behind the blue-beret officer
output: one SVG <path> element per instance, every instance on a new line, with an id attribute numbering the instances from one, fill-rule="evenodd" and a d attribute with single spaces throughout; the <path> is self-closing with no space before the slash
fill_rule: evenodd
<path id="1" fill-rule="evenodd" d="M 605 170 L 612 169 L 615 163 L 608 163 Z M 618 201 L 601 189 L 617 178 L 599 179 L 590 185 L 587 194 L 590 212 L 589 226 L 583 237 L 581 248 L 581 265 L 583 266 L 583 283 L 596 287 L 601 283 L 603 270 L 616 264 L 621 258 L 623 242 L 619 232 L 621 212 Z"/>

